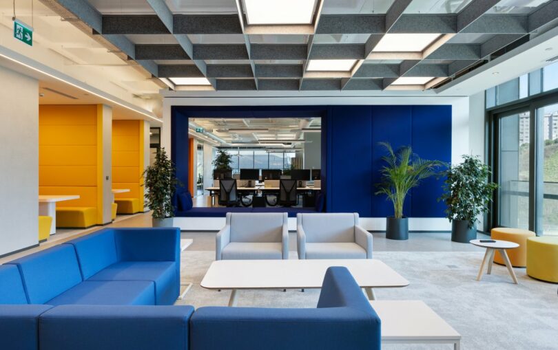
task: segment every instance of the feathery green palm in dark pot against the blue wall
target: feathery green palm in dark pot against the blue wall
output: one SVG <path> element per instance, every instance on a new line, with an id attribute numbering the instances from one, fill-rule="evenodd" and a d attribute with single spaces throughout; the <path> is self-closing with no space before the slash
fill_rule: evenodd
<path id="1" fill-rule="evenodd" d="M 385 195 L 393 204 L 393 217 L 386 218 L 387 239 L 409 239 L 409 218 L 403 215 L 403 204 L 411 188 L 420 184 L 422 179 L 437 173 L 443 165 L 437 160 L 423 160 L 413 154 L 411 146 L 403 146 L 393 151 L 387 142 L 380 142 L 387 155 L 382 157 L 385 165 L 380 170 L 382 181 L 376 184 L 376 195 Z"/>

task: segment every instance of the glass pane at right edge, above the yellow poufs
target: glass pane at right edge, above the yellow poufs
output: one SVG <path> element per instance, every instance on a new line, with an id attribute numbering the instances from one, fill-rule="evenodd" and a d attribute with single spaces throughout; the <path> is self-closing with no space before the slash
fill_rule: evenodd
<path id="1" fill-rule="evenodd" d="M 543 234 L 558 234 L 558 104 L 537 111 L 542 116 L 543 138 L 539 145 L 544 147 L 543 162 Z M 539 119 L 540 120 L 540 119 Z M 540 206 L 537 201 L 537 206 Z"/>

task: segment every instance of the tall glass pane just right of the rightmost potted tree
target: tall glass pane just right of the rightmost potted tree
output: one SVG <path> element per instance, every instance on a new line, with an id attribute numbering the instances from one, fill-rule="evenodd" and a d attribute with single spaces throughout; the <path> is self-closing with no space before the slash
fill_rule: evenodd
<path id="1" fill-rule="evenodd" d="M 529 112 L 500 119 L 499 225 L 529 228 Z"/>

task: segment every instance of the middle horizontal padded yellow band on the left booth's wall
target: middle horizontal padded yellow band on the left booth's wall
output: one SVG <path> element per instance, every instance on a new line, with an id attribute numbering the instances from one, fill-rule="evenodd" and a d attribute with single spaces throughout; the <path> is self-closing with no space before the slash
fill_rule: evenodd
<path id="1" fill-rule="evenodd" d="M 96 146 L 41 146 L 39 165 L 96 165 Z"/>

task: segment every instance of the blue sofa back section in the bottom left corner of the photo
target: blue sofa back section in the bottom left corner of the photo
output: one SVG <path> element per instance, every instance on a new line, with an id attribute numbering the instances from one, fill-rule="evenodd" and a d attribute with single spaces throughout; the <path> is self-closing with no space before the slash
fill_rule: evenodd
<path id="1" fill-rule="evenodd" d="M 50 305 L 0 305 L 0 349 L 39 349 L 39 316 Z"/>

